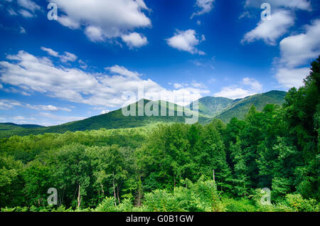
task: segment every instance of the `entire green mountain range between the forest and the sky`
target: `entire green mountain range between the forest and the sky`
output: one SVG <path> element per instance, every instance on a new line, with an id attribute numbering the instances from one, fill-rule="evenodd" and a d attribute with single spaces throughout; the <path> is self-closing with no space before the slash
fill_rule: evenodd
<path id="1" fill-rule="evenodd" d="M 255 105 L 257 110 L 261 111 L 266 104 L 283 104 L 284 96 L 286 92 L 282 91 L 270 91 L 244 99 L 228 99 L 224 97 L 203 97 L 198 100 L 199 113 L 198 122 L 206 124 L 211 122 L 213 118 L 221 119 L 223 122 L 229 122 L 233 117 L 243 119 L 247 114 L 250 107 Z M 138 116 L 138 107 L 142 106 L 139 104 L 143 103 L 143 107 L 146 104 L 158 103 L 159 104 L 159 116 Z M 164 105 L 161 105 L 164 104 Z M 16 124 L 0 124 L 0 137 L 9 137 L 12 135 L 25 136 L 29 134 L 44 134 L 44 133 L 64 133 L 66 131 L 85 131 L 93 129 L 124 129 L 134 127 L 144 127 L 150 124 L 159 123 L 185 123 L 186 119 L 190 119 L 191 113 L 194 114 L 190 109 L 193 109 L 193 103 L 186 107 L 179 106 L 170 102 L 158 101 L 151 102 L 148 99 L 142 99 L 135 103 L 136 116 L 126 117 L 122 114 L 122 109 L 117 109 L 107 114 L 100 114 L 95 117 L 83 119 L 81 121 L 69 122 L 53 127 L 41 127 L 38 125 L 16 125 Z M 165 106 L 166 116 L 161 116 L 161 106 Z M 127 109 L 130 109 L 128 107 Z M 150 109 L 150 107 L 149 107 Z M 183 114 L 183 109 L 187 112 Z M 152 110 L 152 107 L 151 107 Z M 171 112 L 171 114 L 169 114 Z M 144 112 L 145 113 L 145 112 Z M 174 116 L 170 116 L 174 115 Z"/>

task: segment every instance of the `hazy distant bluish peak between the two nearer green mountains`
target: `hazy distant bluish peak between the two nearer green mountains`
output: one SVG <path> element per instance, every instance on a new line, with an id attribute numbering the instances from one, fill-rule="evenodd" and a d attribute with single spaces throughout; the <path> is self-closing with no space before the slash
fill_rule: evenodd
<path id="1" fill-rule="evenodd" d="M 224 109 L 233 103 L 233 99 L 228 99 L 225 97 L 203 97 L 198 99 L 199 104 L 199 114 L 203 117 L 213 118 L 218 114 L 222 113 Z M 192 102 L 187 107 L 193 109 Z"/>

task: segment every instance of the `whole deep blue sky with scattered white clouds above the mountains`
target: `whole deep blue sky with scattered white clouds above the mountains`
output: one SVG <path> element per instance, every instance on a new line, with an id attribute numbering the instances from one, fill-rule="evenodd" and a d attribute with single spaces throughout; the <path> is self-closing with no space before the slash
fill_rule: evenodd
<path id="1" fill-rule="evenodd" d="M 299 87 L 320 54 L 319 10 L 316 0 L 2 0 L 0 122 L 84 119 L 142 85 L 178 104 Z"/>

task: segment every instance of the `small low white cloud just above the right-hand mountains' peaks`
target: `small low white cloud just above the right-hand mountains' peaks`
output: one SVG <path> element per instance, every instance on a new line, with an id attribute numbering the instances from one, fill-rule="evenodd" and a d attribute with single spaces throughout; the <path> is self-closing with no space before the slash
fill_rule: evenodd
<path id="1" fill-rule="evenodd" d="M 262 85 L 254 78 L 245 77 L 240 85 L 223 87 L 220 92 L 214 94 L 215 97 L 227 97 L 230 99 L 245 98 L 262 91 Z"/>

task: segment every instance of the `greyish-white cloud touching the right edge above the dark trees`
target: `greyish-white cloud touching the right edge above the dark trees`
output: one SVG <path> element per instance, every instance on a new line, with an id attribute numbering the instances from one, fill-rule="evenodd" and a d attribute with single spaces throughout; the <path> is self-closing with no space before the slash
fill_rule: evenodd
<path id="1" fill-rule="evenodd" d="M 292 68 L 309 63 L 320 55 L 320 20 L 305 26 L 305 33 L 284 38 L 280 42 L 279 63 Z"/>

